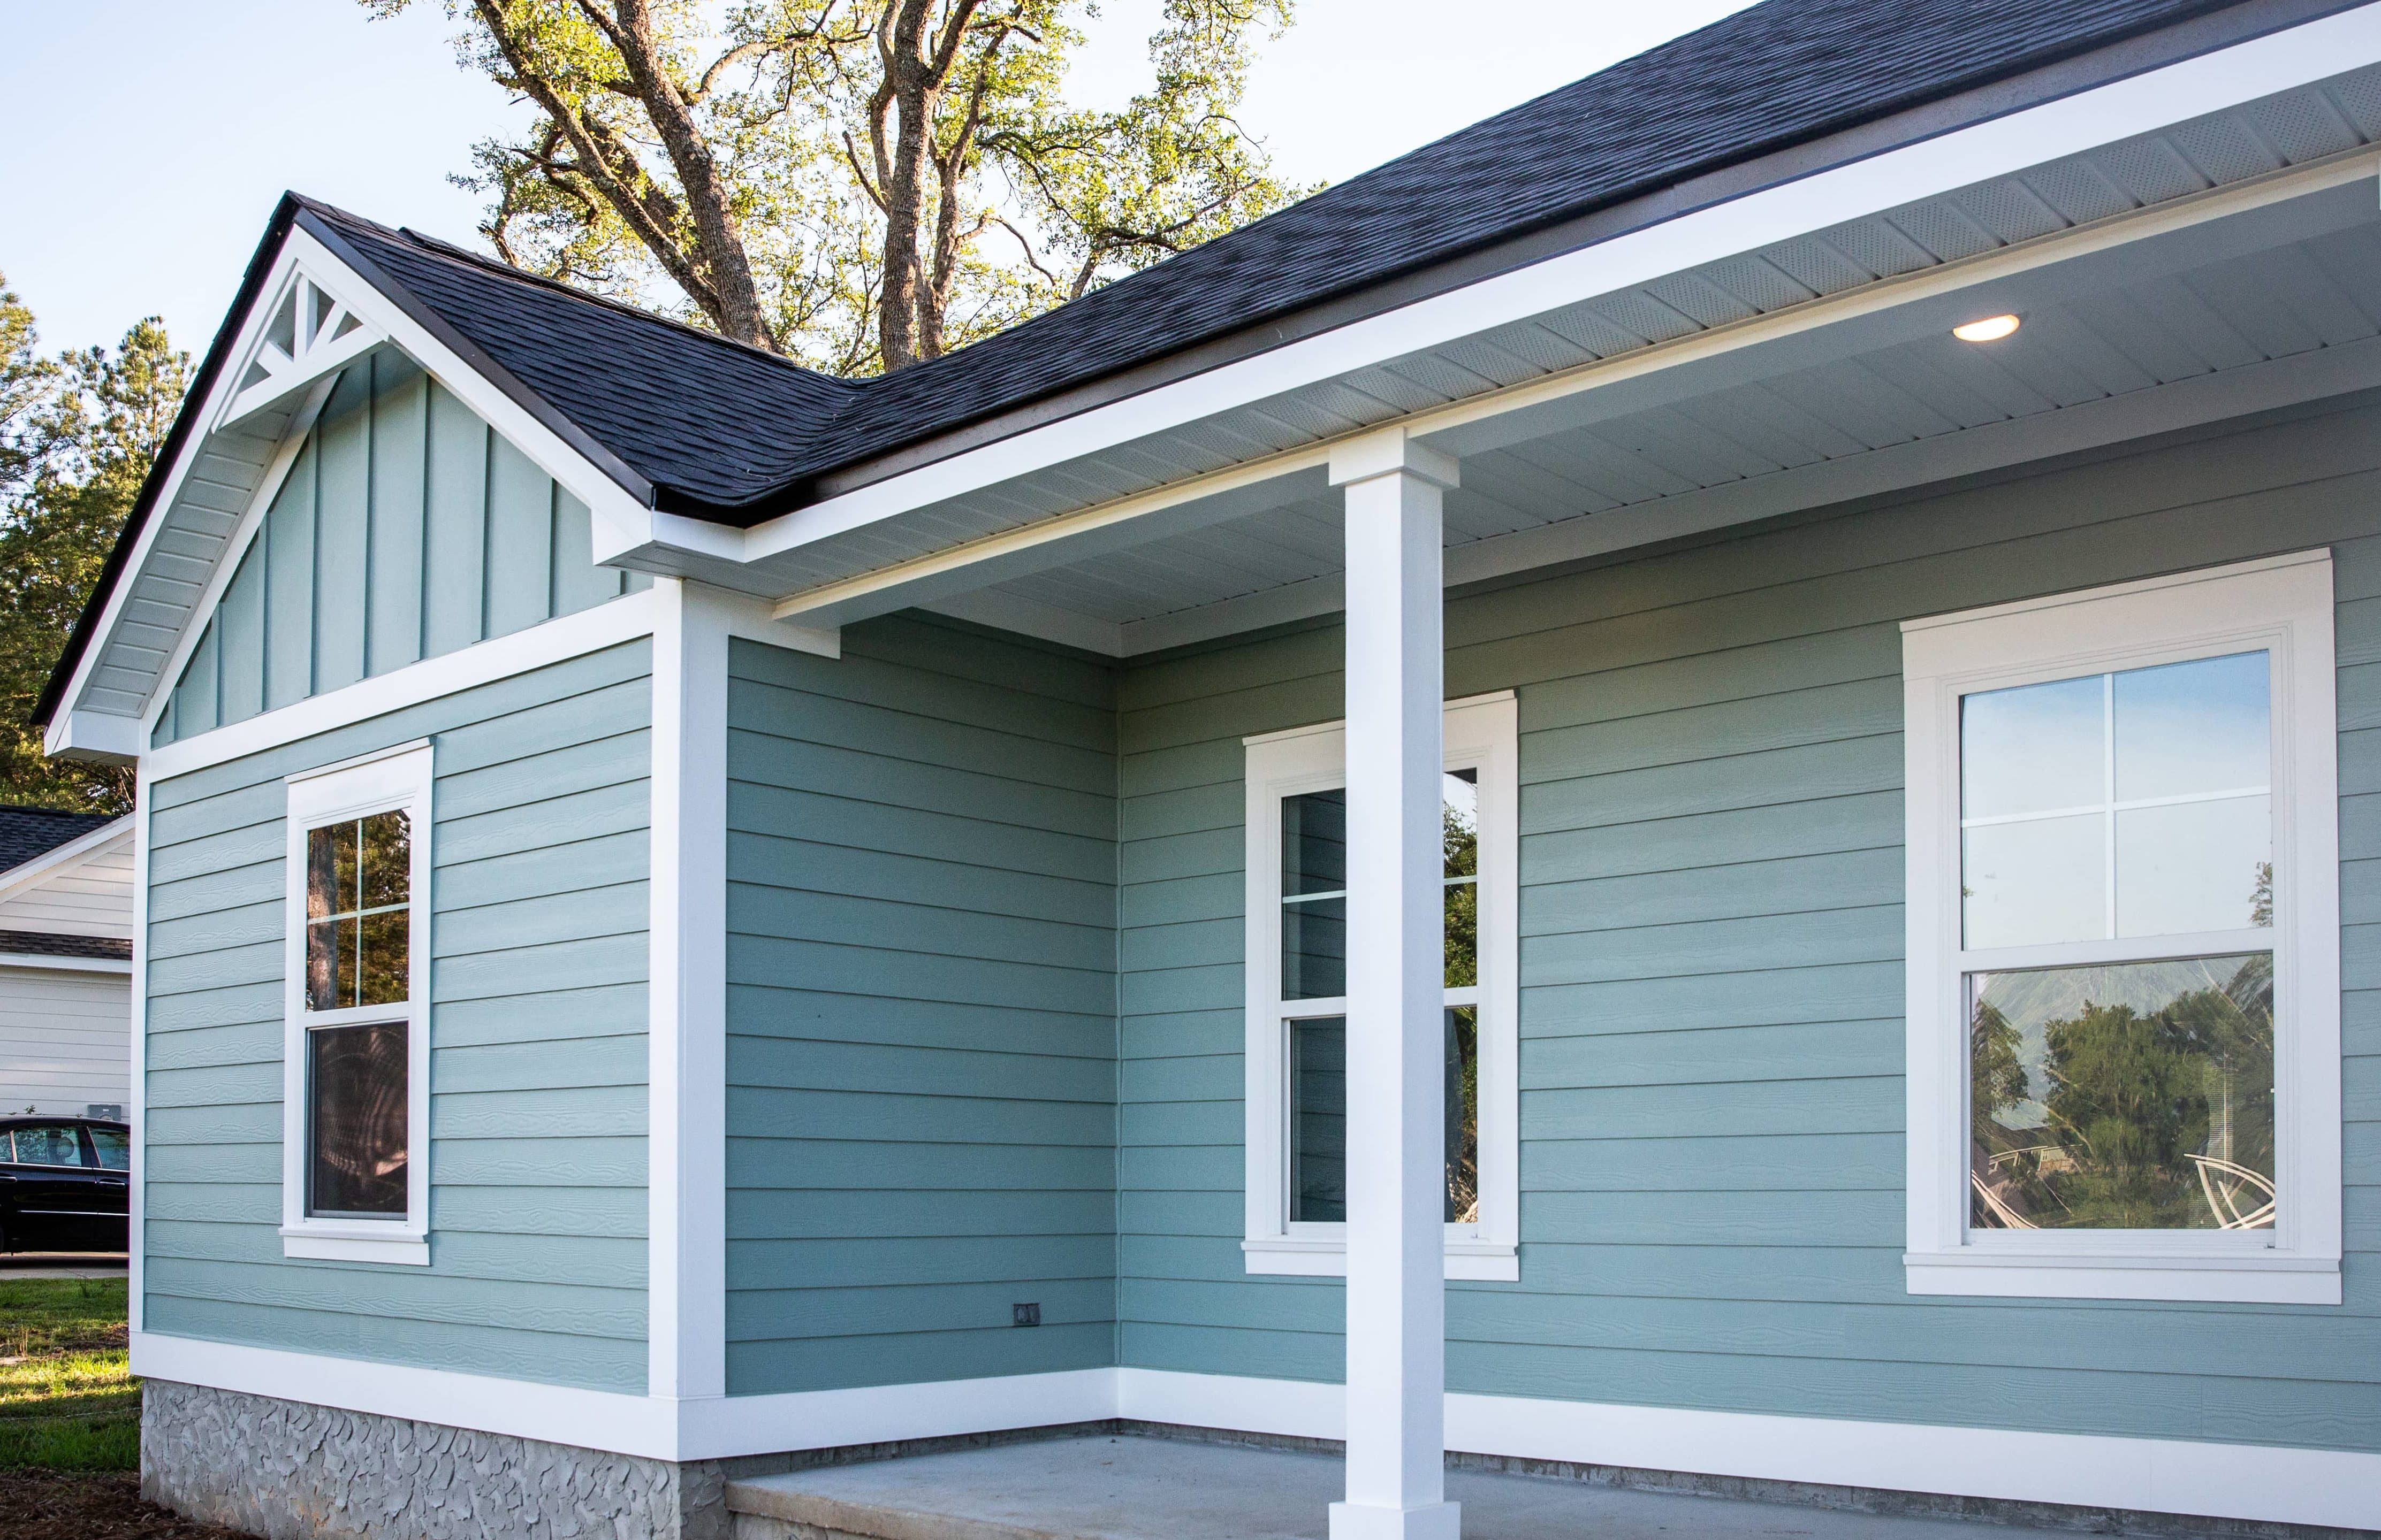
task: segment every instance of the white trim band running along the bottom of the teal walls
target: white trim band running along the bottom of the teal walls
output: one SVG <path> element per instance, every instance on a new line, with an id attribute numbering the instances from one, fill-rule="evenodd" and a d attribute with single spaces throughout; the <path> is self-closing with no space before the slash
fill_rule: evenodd
<path id="1" fill-rule="evenodd" d="M 1074 1369 L 674 1402 L 138 1328 L 131 1352 L 133 1373 L 145 1378 L 650 1459 L 731 1459 L 1110 1416 L 1293 1438 L 1345 1433 L 1341 1385 L 1164 1369 Z M 2381 1454 L 2362 1450 L 1502 1395 L 1448 1395 L 1448 1447 L 1645 1471 L 2345 1528 L 2369 1526 L 2374 1492 L 2381 1492 Z"/>

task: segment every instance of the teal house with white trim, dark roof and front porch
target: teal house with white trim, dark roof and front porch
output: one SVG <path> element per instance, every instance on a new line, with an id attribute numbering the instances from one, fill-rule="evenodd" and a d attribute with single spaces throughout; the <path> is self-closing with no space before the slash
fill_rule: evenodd
<path id="1" fill-rule="evenodd" d="M 2381 5 L 1774 0 L 879 381 L 288 198 L 43 702 L 150 1490 L 2381 1521 L 2376 186 Z"/>

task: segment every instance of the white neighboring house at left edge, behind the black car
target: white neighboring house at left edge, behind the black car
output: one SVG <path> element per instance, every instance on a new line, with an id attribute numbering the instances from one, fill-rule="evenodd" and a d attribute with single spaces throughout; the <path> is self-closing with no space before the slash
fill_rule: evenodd
<path id="1" fill-rule="evenodd" d="M 0 1116 L 131 1102 L 133 821 L 0 807 Z"/>

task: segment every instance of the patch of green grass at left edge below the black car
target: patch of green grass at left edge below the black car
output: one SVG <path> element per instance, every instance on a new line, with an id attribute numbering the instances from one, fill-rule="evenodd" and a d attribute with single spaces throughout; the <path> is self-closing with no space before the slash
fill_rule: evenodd
<path id="1" fill-rule="evenodd" d="M 0 1471 L 133 1471 L 121 1278 L 0 1278 Z"/>

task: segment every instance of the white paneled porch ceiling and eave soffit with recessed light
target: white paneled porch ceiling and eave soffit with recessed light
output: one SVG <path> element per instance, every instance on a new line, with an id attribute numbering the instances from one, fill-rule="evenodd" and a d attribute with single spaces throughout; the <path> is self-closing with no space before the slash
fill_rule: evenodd
<path id="1" fill-rule="evenodd" d="M 2362 281 L 2381 243 L 2360 245 L 2381 240 L 2376 140 L 2381 67 L 2364 67 L 755 555 L 740 583 L 764 574 L 790 593 L 781 612 L 812 624 L 926 605 L 1045 616 L 1019 628 L 1129 655 L 1336 609 L 1338 514 L 1321 445 L 1391 419 L 1419 419 L 1429 443 L 1464 462 L 1464 486 L 1448 495 L 1457 583 L 1533 564 L 1507 547 L 1467 566 L 1462 545 L 1976 431 L 2014 438 L 2012 424 L 2236 371 L 2274 374 L 2281 359 L 2381 336 L 2381 290 Z M 1862 305 L 1871 293 L 1881 302 Z M 1979 350 L 1945 336 L 1995 302 L 2026 314 L 2017 338 Z M 1802 307 L 1826 319 L 1762 338 L 1769 317 Z M 1736 333 L 1745 345 L 1721 357 Z M 2295 397 L 2381 383 L 2364 359 L 2326 364 L 2324 378 L 2345 383 L 2300 383 Z M 1610 386 L 1505 405 L 1614 367 Z M 2269 405 L 2264 395 L 2250 390 L 2248 409 Z M 2229 414 L 2191 400 L 2174 409 L 2186 421 Z M 2138 419 L 2124 436 L 2167 426 L 2138 402 L 2098 417 Z M 2038 452 L 2062 452 L 2062 436 L 2079 433 L 2107 443 L 2112 431 L 2062 424 Z M 1169 490 L 1202 476 L 1219 490 Z M 1919 478 L 1900 474 L 1902 486 Z M 1845 495 L 1879 490 L 1862 476 L 1838 481 Z M 1162 517 L 1140 517 L 1136 500 Z M 1107 509 L 1114 521 L 1102 521 Z M 1019 538 L 1086 519 L 1098 528 L 1069 528 L 1050 550 Z M 1619 543 L 1664 533 L 1648 524 Z M 1545 545 L 1543 559 L 1576 555 Z M 1293 586 L 1305 593 L 1281 595 L 1283 614 L 1248 605 Z M 1241 612 L 1181 619 L 1221 602 Z"/>

